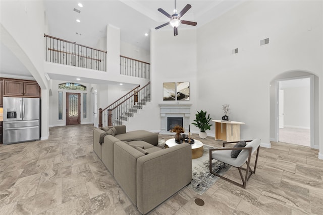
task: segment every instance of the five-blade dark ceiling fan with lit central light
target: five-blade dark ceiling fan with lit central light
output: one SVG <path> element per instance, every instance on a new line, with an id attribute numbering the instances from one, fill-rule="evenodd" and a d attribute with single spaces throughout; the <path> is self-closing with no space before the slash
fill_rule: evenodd
<path id="1" fill-rule="evenodd" d="M 158 11 L 162 14 L 164 14 L 165 16 L 167 16 L 168 18 L 171 19 L 170 22 L 167 22 L 163 25 L 159 25 L 158 27 L 156 27 L 155 29 L 159 29 L 161 27 L 164 27 L 164 26 L 167 26 L 167 25 L 171 25 L 174 29 L 174 36 L 176 36 L 178 34 L 177 32 L 177 27 L 180 25 L 180 24 L 186 24 L 186 25 L 192 25 L 192 26 L 196 26 L 197 23 L 196 22 L 191 22 L 191 21 L 186 21 L 186 20 L 180 20 L 180 18 L 188 11 L 190 10 L 190 8 L 192 8 L 191 5 L 187 4 L 183 10 L 177 14 L 177 10 L 176 10 L 176 0 L 175 0 L 175 9 L 174 9 L 174 14 L 173 15 L 170 15 L 168 14 L 166 11 L 164 11 L 163 9 L 161 8 L 158 8 Z"/>

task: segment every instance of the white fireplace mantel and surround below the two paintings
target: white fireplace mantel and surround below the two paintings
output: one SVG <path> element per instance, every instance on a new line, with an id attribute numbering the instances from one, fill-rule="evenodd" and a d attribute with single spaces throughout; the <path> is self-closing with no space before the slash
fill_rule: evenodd
<path id="1" fill-rule="evenodd" d="M 183 117 L 183 127 L 188 131 L 192 104 L 158 104 L 160 108 L 160 133 L 168 134 L 167 117 Z"/>

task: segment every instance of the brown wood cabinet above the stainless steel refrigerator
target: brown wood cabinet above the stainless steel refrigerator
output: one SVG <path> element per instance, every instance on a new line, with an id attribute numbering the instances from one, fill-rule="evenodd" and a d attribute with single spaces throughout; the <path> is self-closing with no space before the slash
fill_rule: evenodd
<path id="1" fill-rule="evenodd" d="M 4 79 L 4 96 L 39 98 L 41 91 L 35 81 Z"/>

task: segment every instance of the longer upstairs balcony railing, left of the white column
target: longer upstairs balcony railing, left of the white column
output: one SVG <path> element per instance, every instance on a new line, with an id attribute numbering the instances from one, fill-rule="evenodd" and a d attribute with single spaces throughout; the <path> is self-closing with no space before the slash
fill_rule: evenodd
<path id="1" fill-rule="evenodd" d="M 46 61 L 106 71 L 106 51 L 44 34 Z"/>

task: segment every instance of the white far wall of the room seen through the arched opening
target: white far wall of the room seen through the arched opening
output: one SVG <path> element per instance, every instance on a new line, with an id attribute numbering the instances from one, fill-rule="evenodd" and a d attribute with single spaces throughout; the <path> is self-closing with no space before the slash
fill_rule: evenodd
<path id="1" fill-rule="evenodd" d="M 309 86 L 284 90 L 284 127 L 309 129 Z"/>

